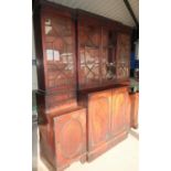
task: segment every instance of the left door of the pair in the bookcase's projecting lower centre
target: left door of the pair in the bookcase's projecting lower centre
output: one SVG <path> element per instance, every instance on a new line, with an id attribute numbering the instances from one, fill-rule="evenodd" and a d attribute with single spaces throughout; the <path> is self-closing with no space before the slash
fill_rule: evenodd
<path id="1" fill-rule="evenodd" d="M 109 139 L 111 90 L 95 93 L 88 99 L 88 150 Z"/>

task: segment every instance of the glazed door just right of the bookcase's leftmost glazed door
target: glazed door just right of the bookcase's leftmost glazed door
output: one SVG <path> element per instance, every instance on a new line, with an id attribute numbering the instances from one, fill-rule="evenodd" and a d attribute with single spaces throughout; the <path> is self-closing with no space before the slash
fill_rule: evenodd
<path id="1" fill-rule="evenodd" d="M 96 20 L 78 20 L 78 86 L 79 89 L 100 84 L 101 26 Z"/>

